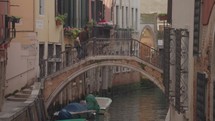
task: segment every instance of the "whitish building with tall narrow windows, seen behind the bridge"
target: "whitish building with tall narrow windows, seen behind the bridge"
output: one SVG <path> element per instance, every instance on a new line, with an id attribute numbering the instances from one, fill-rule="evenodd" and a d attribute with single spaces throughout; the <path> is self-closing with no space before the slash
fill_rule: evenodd
<path id="1" fill-rule="evenodd" d="M 112 4 L 112 22 L 116 25 L 116 33 L 119 38 L 133 38 L 139 40 L 140 23 L 140 0 L 113 0 Z M 124 32 L 127 32 L 123 34 Z M 127 35 L 132 36 L 127 36 Z M 126 36 L 125 36 L 126 35 Z M 129 43 L 119 48 L 115 45 L 114 50 L 117 54 L 128 53 Z M 138 48 L 139 45 L 134 45 Z M 139 50 L 133 50 L 138 55 Z M 136 83 L 140 81 L 140 74 L 125 67 L 113 67 L 112 86 Z"/>

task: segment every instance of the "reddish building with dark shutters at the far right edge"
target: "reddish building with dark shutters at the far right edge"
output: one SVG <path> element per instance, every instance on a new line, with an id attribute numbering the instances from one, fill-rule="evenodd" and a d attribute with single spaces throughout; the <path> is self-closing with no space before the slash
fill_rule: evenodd
<path id="1" fill-rule="evenodd" d="M 201 3 L 201 4 L 200 4 Z M 198 10 L 201 10 L 200 12 Z M 194 116 L 193 120 L 215 120 L 215 1 L 195 0 L 193 54 Z M 199 25 L 199 26 L 198 26 Z"/>

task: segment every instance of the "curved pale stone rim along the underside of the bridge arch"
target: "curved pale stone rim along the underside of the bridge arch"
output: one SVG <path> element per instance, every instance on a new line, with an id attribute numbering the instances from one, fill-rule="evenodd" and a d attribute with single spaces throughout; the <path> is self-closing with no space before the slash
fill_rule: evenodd
<path id="1" fill-rule="evenodd" d="M 55 97 L 57 95 L 60 94 L 60 92 L 62 91 L 63 88 L 65 88 L 67 86 L 67 84 L 69 84 L 72 80 L 74 80 L 76 77 L 78 77 L 79 75 L 81 75 L 82 73 L 93 69 L 93 68 L 97 68 L 97 67 L 102 67 L 102 66 L 120 66 L 120 67 L 125 67 L 125 68 L 129 68 L 132 69 L 134 71 L 139 72 L 141 75 L 144 75 L 146 78 L 148 78 L 149 80 L 151 80 L 156 86 L 158 86 L 163 92 L 164 92 L 164 86 L 163 84 L 157 80 L 155 77 L 153 77 L 152 75 L 147 74 L 146 71 L 144 71 L 142 68 L 137 68 L 136 66 L 133 66 L 131 64 L 120 64 L 120 63 L 113 63 L 111 62 L 100 62 L 100 63 L 94 63 L 88 66 L 85 66 L 79 70 L 77 70 L 75 73 L 73 73 L 70 77 L 68 77 L 66 80 L 63 81 L 63 83 L 61 83 L 54 91 L 53 93 L 49 96 L 49 98 L 47 99 L 45 106 L 46 109 L 49 108 L 49 106 L 51 105 L 51 103 L 54 101 Z"/>

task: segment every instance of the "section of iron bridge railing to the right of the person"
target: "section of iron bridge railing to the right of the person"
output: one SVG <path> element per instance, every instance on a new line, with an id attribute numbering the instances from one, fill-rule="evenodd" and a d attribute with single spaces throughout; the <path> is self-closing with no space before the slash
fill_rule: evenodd
<path id="1" fill-rule="evenodd" d="M 135 39 L 120 38 L 92 38 L 92 56 L 116 55 L 116 56 L 135 56 L 158 68 L 162 68 L 162 55 L 156 49 L 141 43 Z M 89 43 L 90 44 L 90 43 Z M 88 50 L 88 52 L 90 52 Z"/>

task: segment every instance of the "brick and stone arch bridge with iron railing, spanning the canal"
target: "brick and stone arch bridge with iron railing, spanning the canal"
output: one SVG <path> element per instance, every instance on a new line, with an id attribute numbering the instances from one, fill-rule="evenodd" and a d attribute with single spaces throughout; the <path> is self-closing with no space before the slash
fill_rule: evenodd
<path id="1" fill-rule="evenodd" d="M 140 72 L 164 92 L 162 56 L 157 50 L 134 39 L 94 38 L 87 44 L 87 52 L 79 60 L 74 49 L 67 49 L 40 62 L 46 110 L 77 76 L 100 66 L 122 66 Z"/>

